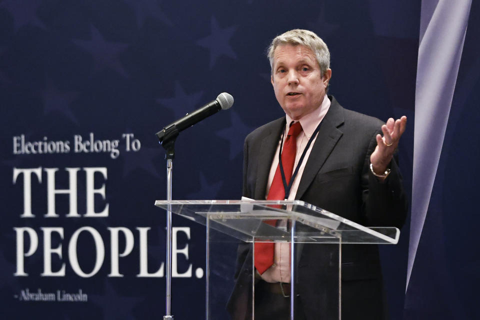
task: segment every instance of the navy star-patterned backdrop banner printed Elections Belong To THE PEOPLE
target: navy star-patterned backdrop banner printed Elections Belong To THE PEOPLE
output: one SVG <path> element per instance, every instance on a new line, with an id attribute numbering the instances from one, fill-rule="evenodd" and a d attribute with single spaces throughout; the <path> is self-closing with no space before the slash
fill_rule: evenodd
<path id="1" fill-rule="evenodd" d="M 291 28 L 325 40 L 329 92 L 344 107 L 408 116 L 410 194 L 420 3 L 387 2 L 1 0 L 0 318 L 161 318 L 165 212 L 153 203 L 166 198 L 166 161 L 155 132 L 232 94 L 232 108 L 180 133 L 172 194 L 238 199 L 245 135 L 283 114 L 265 50 Z M 172 313 L 202 318 L 205 230 L 173 226 Z M 393 319 L 402 232 L 381 252 Z"/>

